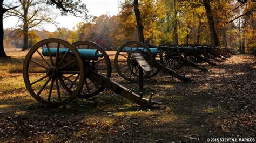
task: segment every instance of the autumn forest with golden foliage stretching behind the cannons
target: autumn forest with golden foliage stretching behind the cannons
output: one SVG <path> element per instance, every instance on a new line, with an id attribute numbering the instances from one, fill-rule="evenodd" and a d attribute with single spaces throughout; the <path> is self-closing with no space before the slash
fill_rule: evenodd
<path id="1" fill-rule="evenodd" d="M 250 0 L 246 3 L 234 0 L 207 0 L 207 2 L 211 6 L 218 45 L 239 53 L 255 50 L 256 2 Z M 28 17 L 41 7 L 42 5 L 38 3 L 31 6 L 31 9 L 28 8 Z M 24 46 L 24 23 L 17 25 L 17 28 L 5 29 L 4 48 L 27 49 L 43 39 L 59 38 L 71 43 L 89 40 L 96 42 L 106 50 L 116 50 L 126 41 L 138 40 L 133 1 L 119 3 L 119 7 L 117 15 L 105 14 L 98 17 L 86 15 L 83 17 L 83 22 L 70 29 L 57 28 L 55 32 L 49 32 L 40 28 L 42 24 L 32 26 L 28 29 L 27 46 Z M 204 1 L 141 0 L 139 10 L 146 43 L 159 45 L 162 42 L 174 42 L 178 45 L 212 45 L 211 28 L 208 24 Z M 6 16 L 17 16 L 17 11 L 23 13 L 23 7 L 19 6 L 7 12 Z M 38 13 L 36 15 L 39 15 Z M 24 22 L 24 19 L 20 19 Z M 53 16 L 43 21 L 58 26 L 54 20 Z M 68 19 L 67 22 L 69 22 Z"/>

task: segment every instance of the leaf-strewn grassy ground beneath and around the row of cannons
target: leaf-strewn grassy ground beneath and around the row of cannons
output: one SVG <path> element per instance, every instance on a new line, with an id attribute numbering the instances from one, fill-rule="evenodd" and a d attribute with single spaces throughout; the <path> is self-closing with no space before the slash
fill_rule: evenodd
<path id="1" fill-rule="evenodd" d="M 46 108 L 26 90 L 22 67 L 28 51 L 8 50 L 0 59 L 0 141 L 206 141 L 255 138 L 256 59 L 235 55 L 208 66 L 207 73 L 179 69 L 195 82 L 160 73 L 145 81 L 145 92 L 162 110 L 140 108 L 105 90 L 91 99 L 75 98 Z M 112 61 L 115 52 L 107 52 Z M 137 90 L 113 69 L 112 79 Z"/>

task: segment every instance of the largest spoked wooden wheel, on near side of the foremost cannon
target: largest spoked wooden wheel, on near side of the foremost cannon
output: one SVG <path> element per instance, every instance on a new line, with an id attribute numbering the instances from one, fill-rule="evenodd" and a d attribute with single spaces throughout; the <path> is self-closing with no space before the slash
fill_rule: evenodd
<path id="1" fill-rule="evenodd" d="M 60 48 L 66 48 L 66 52 L 60 53 Z M 43 49 L 48 56 L 43 54 Z M 50 51 L 54 49 L 57 50 L 53 56 Z M 70 56 L 72 61 L 65 63 L 65 59 Z M 77 63 L 76 68 L 66 68 L 74 62 Z M 26 88 L 38 102 L 51 107 L 65 105 L 83 88 L 84 61 L 69 42 L 56 38 L 45 39 L 33 46 L 26 55 L 23 78 Z M 67 92 L 67 88 L 72 92 Z"/>

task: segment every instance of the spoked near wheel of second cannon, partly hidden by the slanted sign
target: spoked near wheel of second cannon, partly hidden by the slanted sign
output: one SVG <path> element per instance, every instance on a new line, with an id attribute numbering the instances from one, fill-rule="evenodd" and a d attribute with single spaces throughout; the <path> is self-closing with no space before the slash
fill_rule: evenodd
<path id="1" fill-rule="evenodd" d="M 139 78 L 139 65 L 132 59 L 131 52 L 139 52 L 143 58 L 153 67 L 154 58 L 147 45 L 142 42 L 130 41 L 121 45 L 114 58 L 114 66 L 117 73 L 127 81 L 137 82 Z M 143 71 L 143 77 L 146 78 L 150 72 Z"/>

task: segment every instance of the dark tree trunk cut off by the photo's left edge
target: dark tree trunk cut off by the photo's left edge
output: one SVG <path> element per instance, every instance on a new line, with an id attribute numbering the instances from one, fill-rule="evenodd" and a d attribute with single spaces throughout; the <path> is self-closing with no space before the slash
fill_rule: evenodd
<path id="1" fill-rule="evenodd" d="M 3 27 L 3 15 L 6 10 L 3 8 L 3 0 L 0 0 L 0 57 L 7 57 L 4 52 L 4 27 Z"/>

